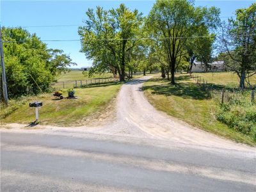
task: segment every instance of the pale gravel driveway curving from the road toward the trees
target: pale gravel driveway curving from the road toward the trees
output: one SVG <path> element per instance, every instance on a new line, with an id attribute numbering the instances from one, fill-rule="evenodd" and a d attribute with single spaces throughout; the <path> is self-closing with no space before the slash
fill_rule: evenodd
<path id="1" fill-rule="evenodd" d="M 100 127 L 70 127 L 70 130 L 73 128 L 72 130 L 79 129 L 79 131 L 92 134 L 148 138 L 202 147 L 253 150 L 253 148 L 246 145 L 234 143 L 209 132 L 191 127 L 154 109 L 141 91 L 143 83 L 150 77 L 152 76 L 142 77 L 122 86 L 117 97 L 114 122 Z M 54 129 L 51 126 L 42 127 Z M 56 129 L 67 131 L 67 128 Z"/>

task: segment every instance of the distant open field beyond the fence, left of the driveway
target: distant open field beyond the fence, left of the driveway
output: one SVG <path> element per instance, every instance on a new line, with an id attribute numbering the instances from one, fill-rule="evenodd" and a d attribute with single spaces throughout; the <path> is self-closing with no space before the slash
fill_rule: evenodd
<path id="1" fill-rule="evenodd" d="M 88 72 L 86 72 L 88 74 Z M 104 73 L 104 74 L 95 74 L 92 77 L 84 76 L 83 70 L 71 70 L 67 73 L 61 73 L 59 77 L 57 77 L 58 82 L 61 81 L 76 81 L 76 80 L 86 80 L 92 78 L 108 78 L 113 77 L 111 73 Z"/>

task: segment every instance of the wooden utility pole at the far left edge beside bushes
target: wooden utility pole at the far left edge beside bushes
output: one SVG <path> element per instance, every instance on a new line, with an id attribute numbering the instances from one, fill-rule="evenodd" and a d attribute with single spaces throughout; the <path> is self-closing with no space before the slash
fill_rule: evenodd
<path id="1" fill-rule="evenodd" d="M 6 86 L 5 68 L 4 68 L 4 51 L 3 51 L 3 41 L 2 41 L 2 28 L 0 25 L 0 49 L 1 49 L 1 68 L 2 68 L 2 84 L 3 84 L 3 96 L 4 102 L 8 105 L 8 93 Z"/>

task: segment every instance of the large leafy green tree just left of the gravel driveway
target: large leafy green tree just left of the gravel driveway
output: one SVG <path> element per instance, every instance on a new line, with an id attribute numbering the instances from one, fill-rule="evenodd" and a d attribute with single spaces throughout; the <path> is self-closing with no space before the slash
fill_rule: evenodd
<path id="1" fill-rule="evenodd" d="M 86 15 L 88 20 L 85 26 L 79 27 L 78 33 L 81 36 L 81 52 L 93 60 L 90 74 L 114 69 L 120 81 L 124 81 L 127 63 L 131 60 L 129 52 L 138 43 L 136 35 L 142 23 L 142 14 L 120 4 L 119 8 L 109 11 L 99 6 L 95 12 L 88 9 Z"/>

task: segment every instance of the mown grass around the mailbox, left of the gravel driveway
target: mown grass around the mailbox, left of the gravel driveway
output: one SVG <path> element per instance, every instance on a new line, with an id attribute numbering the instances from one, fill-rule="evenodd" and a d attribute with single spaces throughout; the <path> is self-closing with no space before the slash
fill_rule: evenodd
<path id="1" fill-rule="evenodd" d="M 122 83 L 106 83 L 88 88 L 76 88 L 78 99 L 54 100 L 52 93 L 36 97 L 10 100 L 8 108 L 1 110 L 1 122 L 30 124 L 35 120 L 35 108 L 29 108 L 29 102 L 42 101 L 39 109 L 40 124 L 58 126 L 76 126 L 88 124 L 88 118 L 98 118 L 117 95 Z M 63 93 L 67 97 L 67 92 Z M 110 109 L 111 110 L 111 109 Z M 4 117 L 5 116 L 5 117 Z M 4 118 L 3 118 L 4 117 Z"/>

